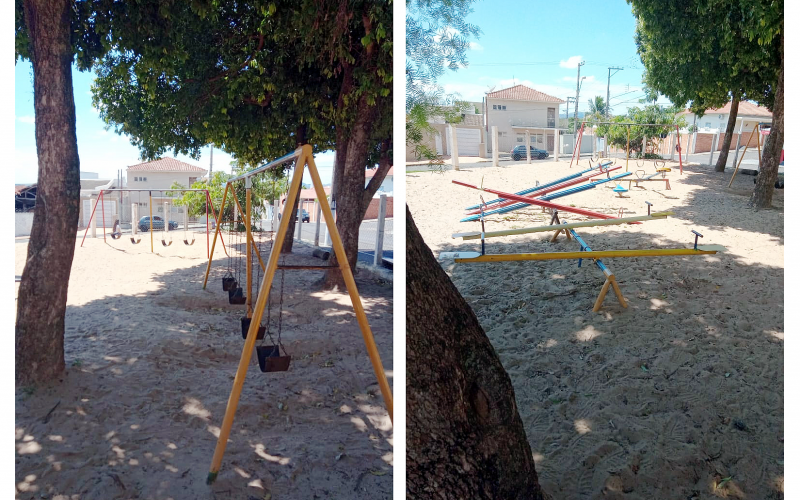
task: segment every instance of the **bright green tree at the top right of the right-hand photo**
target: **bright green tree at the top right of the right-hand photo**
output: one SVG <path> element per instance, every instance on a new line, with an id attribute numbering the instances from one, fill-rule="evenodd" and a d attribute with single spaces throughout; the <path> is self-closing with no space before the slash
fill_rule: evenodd
<path id="1" fill-rule="evenodd" d="M 722 172 L 738 104 L 772 109 L 781 69 L 782 0 L 628 0 L 645 84 L 702 115 L 731 101 L 716 170 Z"/>

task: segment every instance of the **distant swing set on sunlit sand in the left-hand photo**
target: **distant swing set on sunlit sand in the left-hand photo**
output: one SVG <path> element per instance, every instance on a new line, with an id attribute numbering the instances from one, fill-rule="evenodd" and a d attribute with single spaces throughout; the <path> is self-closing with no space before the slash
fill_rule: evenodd
<path id="1" fill-rule="evenodd" d="M 150 233 L 150 252 L 155 252 L 155 247 L 154 247 L 154 241 L 155 241 L 154 229 L 158 229 L 158 228 L 157 227 L 154 228 L 154 226 L 153 226 L 153 193 L 158 193 L 161 198 L 164 198 L 165 197 L 164 193 L 186 193 L 186 192 L 204 193 L 204 199 L 205 199 L 205 203 L 206 203 L 206 212 L 205 212 L 206 213 L 206 217 L 205 217 L 206 254 L 207 254 L 208 257 L 210 257 L 211 256 L 211 249 L 210 249 L 210 236 L 209 236 L 210 232 L 208 230 L 208 220 L 209 220 L 209 218 L 213 218 L 217 222 L 217 225 L 219 225 L 219 220 L 217 219 L 217 215 L 214 212 L 214 205 L 213 205 L 213 203 L 211 203 L 211 197 L 208 194 L 208 190 L 207 189 L 120 189 L 120 188 L 101 189 L 100 192 L 98 193 L 97 200 L 95 200 L 95 202 L 94 202 L 94 206 L 92 208 L 91 216 L 89 217 L 88 224 L 86 225 L 86 230 L 83 233 L 83 239 L 81 240 L 81 246 L 83 246 L 84 242 L 86 241 L 86 235 L 89 232 L 89 228 L 92 226 L 93 222 L 96 223 L 95 215 L 96 215 L 96 212 L 97 212 L 98 205 L 101 206 L 101 207 L 105 207 L 105 203 L 106 203 L 105 202 L 105 196 L 107 194 L 108 195 L 113 195 L 115 193 L 120 195 L 120 199 L 123 199 L 123 196 L 125 194 L 127 194 L 127 198 L 129 200 L 131 200 L 131 201 L 132 201 L 133 195 L 134 194 L 136 195 L 136 202 L 135 203 L 131 203 L 131 207 L 130 207 L 131 208 L 130 240 L 131 240 L 131 243 L 134 244 L 134 245 L 137 245 L 137 244 L 141 243 L 142 238 L 139 235 L 139 230 L 141 228 L 139 228 L 139 224 L 138 224 L 138 222 L 140 220 L 139 219 L 139 207 L 142 205 L 142 196 L 145 193 L 147 193 L 147 205 L 148 205 L 148 208 L 149 208 L 149 210 L 148 210 L 149 225 L 148 225 L 148 227 L 145 227 L 144 229 L 141 229 L 141 230 Z M 169 198 L 169 197 L 171 197 L 171 196 L 166 196 L 166 198 Z M 162 232 L 162 235 L 161 235 L 161 244 L 164 247 L 168 247 L 168 246 L 172 245 L 172 237 L 168 234 L 170 232 L 170 227 L 169 227 L 169 201 L 164 201 L 163 202 L 163 206 L 164 206 L 165 217 L 164 217 L 164 221 L 163 221 L 163 226 L 164 227 L 163 227 L 163 232 Z M 188 237 L 186 236 L 186 233 L 188 231 L 188 218 L 187 218 L 188 216 L 186 214 L 187 211 L 188 211 L 188 207 L 185 207 L 184 208 L 184 238 L 185 238 L 184 243 L 186 243 L 187 245 L 191 245 L 191 244 L 194 243 L 194 236 L 192 236 L 192 242 L 188 243 Z M 106 241 L 105 212 L 106 211 L 101 208 L 100 217 L 101 217 L 101 220 L 102 220 L 102 223 L 103 223 L 103 241 Z M 121 238 L 123 236 L 122 229 L 119 229 L 119 231 L 117 231 L 116 228 L 115 228 L 110 235 L 111 235 L 111 237 L 113 239 L 119 239 L 119 238 Z M 220 241 L 222 242 L 223 251 L 227 254 L 227 249 L 225 248 L 224 240 L 220 239 Z"/>

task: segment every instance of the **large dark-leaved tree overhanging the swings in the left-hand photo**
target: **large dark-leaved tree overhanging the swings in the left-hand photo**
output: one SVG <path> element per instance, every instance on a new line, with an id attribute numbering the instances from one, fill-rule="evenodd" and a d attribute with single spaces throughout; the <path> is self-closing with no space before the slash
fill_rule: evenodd
<path id="1" fill-rule="evenodd" d="M 358 226 L 391 166 L 391 2 L 144 1 L 105 15 L 114 50 L 93 86 L 103 119 L 145 159 L 209 143 L 248 164 L 301 143 L 335 149 L 337 225 L 355 266 Z"/>

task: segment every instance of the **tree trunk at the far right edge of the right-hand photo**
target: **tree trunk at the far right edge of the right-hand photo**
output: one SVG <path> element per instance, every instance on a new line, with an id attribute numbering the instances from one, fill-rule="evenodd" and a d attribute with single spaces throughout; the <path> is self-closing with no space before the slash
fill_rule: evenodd
<path id="1" fill-rule="evenodd" d="M 783 47 L 783 35 L 781 35 L 781 47 Z M 775 106 L 772 110 L 772 128 L 764 143 L 756 187 L 748 202 L 748 206 L 754 208 L 772 206 L 772 193 L 775 191 L 775 181 L 778 179 L 778 167 L 783 151 L 783 51 L 781 51 L 781 75 L 778 78 Z"/>

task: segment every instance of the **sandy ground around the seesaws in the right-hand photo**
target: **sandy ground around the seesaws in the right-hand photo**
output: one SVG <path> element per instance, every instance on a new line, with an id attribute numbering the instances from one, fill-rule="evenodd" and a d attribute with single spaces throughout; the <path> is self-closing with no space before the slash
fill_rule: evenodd
<path id="1" fill-rule="evenodd" d="M 591 262 L 442 263 L 511 377 L 539 479 L 554 498 L 783 498 L 784 193 L 776 191 L 775 209 L 756 212 L 745 208 L 753 177 L 738 175 L 729 189 L 730 171 L 691 165 L 681 176 L 671 166 L 670 191 L 647 183 L 618 198 L 607 183 L 553 200 L 611 215 L 620 207 L 646 215 L 645 201 L 675 212 L 576 229 L 593 250 L 690 247 L 692 229 L 701 244 L 727 247 L 712 256 L 605 259 L 627 309 L 609 293 L 592 312 L 603 275 Z M 586 168 L 588 160 L 572 170 L 544 161 L 409 173 L 408 205 L 435 255 L 480 251 L 480 240 L 451 238 L 480 231 L 479 222 L 459 222 L 479 192 L 451 180 L 483 178 L 516 192 Z M 655 172 L 650 161 L 644 168 Z M 529 207 L 489 216 L 486 230 L 549 221 Z M 580 250 L 551 236 L 487 239 L 486 252 Z"/>

